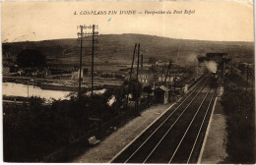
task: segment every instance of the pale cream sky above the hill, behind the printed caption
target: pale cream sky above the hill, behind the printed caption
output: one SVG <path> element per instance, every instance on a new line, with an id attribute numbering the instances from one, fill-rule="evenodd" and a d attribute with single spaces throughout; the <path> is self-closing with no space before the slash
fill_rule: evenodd
<path id="1" fill-rule="evenodd" d="M 137 13 L 119 14 L 127 10 Z M 173 14 L 174 10 L 182 14 Z M 194 14 L 184 14 L 185 10 Z M 118 14 L 80 15 L 84 11 Z M 146 11 L 171 14 L 152 15 L 145 14 Z M 182 39 L 254 41 L 253 21 L 251 1 L 1 2 L 2 42 L 76 38 L 77 26 L 93 24 L 98 26 L 99 34 L 143 33 Z"/>

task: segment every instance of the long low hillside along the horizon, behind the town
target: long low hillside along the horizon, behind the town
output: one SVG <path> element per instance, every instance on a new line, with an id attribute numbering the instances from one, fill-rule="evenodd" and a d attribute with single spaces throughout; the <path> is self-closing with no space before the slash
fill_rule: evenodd
<path id="1" fill-rule="evenodd" d="M 254 59 L 253 42 L 186 40 L 144 34 L 101 34 L 97 37 L 97 41 L 97 65 L 102 63 L 130 64 L 135 43 L 141 43 L 141 52 L 146 61 L 149 57 L 176 61 L 178 49 L 177 63 L 181 65 L 194 63 L 196 57 L 204 56 L 207 52 L 228 53 L 233 61 L 252 62 Z M 79 46 L 76 38 L 3 43 L 3 64 L 8 55 L 9 59 L 11 56 L 15 61 L 19 52 L 32 48 L 46 55 L 49 66 L 74 67 L 78 66 Z M 83 63 L 89 64 L 92 53 L 91 43 L 84 42 L 84 47 L 87 48 L 83 52 Z"/>

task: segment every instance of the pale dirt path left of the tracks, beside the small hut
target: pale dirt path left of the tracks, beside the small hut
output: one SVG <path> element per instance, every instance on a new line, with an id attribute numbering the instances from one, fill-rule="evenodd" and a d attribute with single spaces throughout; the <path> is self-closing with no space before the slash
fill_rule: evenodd
<path id="1" fill-rule="evenodd" d="M 107 163 L 129 142 L 140 135 L 149 125 L 163 114 L 171 104 L 153 105 L 144 110 L 141 116 L 129 121 L 96 146 L 75 158 L 74 163 Z"/>

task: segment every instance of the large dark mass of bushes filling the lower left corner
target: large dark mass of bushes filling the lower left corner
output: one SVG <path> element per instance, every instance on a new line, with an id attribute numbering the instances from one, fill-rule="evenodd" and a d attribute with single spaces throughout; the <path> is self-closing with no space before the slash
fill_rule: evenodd
<path id="1" fill-rule="evenodd" d="M 70 100 L 45 100 L 31 97 L 22 105 L 3 106 L 4 161 L 35 162 L 62 146 L 80 138 L 97 125 L 90 118 L 102 122 L 119 114 L 122 94 L 115 94 L 116 102 L 107 101 L 113 92 L 107 91 L 93 98 L 82 95 Z"/>

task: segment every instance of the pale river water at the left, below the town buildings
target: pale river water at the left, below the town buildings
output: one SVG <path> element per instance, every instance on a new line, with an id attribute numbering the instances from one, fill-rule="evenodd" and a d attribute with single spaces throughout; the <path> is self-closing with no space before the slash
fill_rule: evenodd
<path id="1" fill-rule="evenodd" d="M 29 85 L 29 96 L 39 96 L 45 99 L 65 99 L 70 91 L 47 90 Z M 28 85 L 22 83 L 2 83 L 2 94 L 7 96 L 28 97 Z"/>

